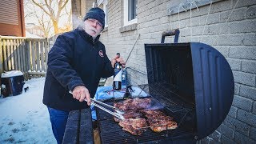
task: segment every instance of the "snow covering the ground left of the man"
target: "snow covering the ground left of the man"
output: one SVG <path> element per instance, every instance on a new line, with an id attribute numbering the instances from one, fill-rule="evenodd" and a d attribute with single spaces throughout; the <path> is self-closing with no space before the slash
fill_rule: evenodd
<path id="1" fill-rule="evenodd" d="M 0 98 L 0 143 L 57 143 L 42 104 L 44 82 L 45 78 L 30 79 L 26 92 Z"/>

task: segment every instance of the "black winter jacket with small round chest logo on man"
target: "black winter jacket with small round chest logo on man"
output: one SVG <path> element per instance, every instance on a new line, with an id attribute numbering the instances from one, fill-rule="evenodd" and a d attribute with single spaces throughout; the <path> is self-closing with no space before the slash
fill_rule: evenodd
<path id="1" fill-rule="evenodd" d="M 114 74 L 105 46 L 82 29 L 61 34 L 48 54 L 42 102 L 57 110 L 88 107 L 69 94 L 75 86 L 86 86 L 94 97 L 100 78 Z"/>

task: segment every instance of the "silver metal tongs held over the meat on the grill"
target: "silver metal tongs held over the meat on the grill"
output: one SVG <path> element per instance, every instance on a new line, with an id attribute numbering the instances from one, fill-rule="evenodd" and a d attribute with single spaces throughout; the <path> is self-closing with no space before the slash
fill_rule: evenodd
<path id="1" fill-rule="evenodd" d="M 70 94 L 73 94 L 72 91 L 69 91 L 69 93 L 70 93 Z M 117 118 L 119 118 L 119 119 L 121 119 L 121 120 L 124 120 L 124 119 L 125 119 L 125 118 L 122 116 L 122 114 L 124 114 L 124 112 L 123 112 L 122 110 L 119 110 L 118 108 L 116 108 L 116 107 L 114 107 L 114 106 L 110 106 L 110 105 L 108 105 L 108 104 L 106 104 L 106 103 L 104 103 L 104 102 L 97 101 L 97 100 L 95 100 L 95 99 L 93 99 L 93 98 L 90 98 L 90 100 L 91 100 L 91 104 L 94 105 L 94 106 L 96 106 L 96 107 L 98 107 L 99 109 L 104 110 L 104 111 L 106 111 L 107 113 L 109 113 L 109 114 L 111 114 L 111 115 L 114 115 L 114 117 L 117 117 Z M 85 99 L 85 101 L 86 101 L 86 99 Z M 86 101 L 86 102 L 87 102 L 87 101 Z M 102 105 L 102 106 L 100 106 L 100 105 Z M 111 110 L 108 110 L 108 109 L 106 109 L 106 108 L 103 107 L 103 106 L 110 107 L 110 108 L 114 109 L 114 111 L 116 111 L 116 112 L 113 112 L 113 111 L 111 111 Z"/>

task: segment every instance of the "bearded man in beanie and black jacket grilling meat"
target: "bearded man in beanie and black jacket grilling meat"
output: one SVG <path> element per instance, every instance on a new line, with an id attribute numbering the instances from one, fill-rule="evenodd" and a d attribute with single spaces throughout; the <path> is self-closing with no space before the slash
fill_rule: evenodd
<path id="1" fill-rule="evenodd" d="M 105 26 L 104 11 L 92 8 L 83 20 L 83 27 L 58 36 L 48 54 L 43 103 L 48 107 L 58 143 L 62 143 L 70 110 L 90 106 L 100 78 L 114 74 L 115 62 L 125 66 L 122 58 L 110 62 L 105 46 L 98 40 Z"/>

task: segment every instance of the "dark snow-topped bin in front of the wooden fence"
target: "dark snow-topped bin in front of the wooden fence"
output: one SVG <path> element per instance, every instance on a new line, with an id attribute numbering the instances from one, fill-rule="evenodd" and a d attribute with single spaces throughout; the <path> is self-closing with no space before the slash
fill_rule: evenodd
<path id="1" fill-rule="evenodd" d="M 23 73 L 19 70 L 11 70 L 1 74 L 2 97 L 22 94 L 24 85 Z"/>

